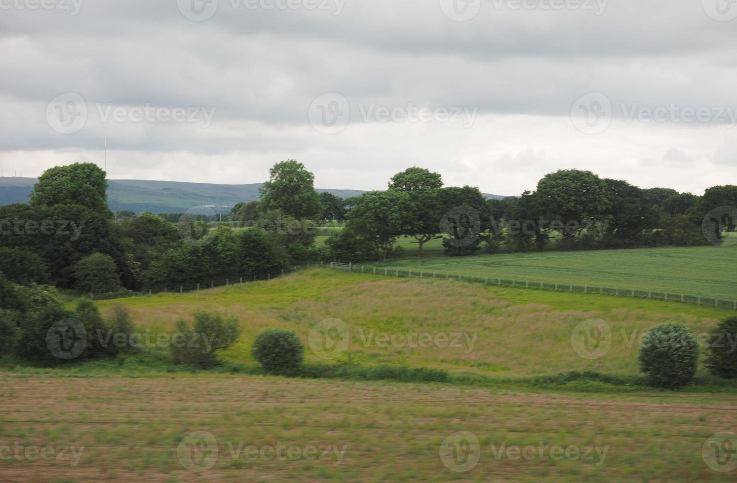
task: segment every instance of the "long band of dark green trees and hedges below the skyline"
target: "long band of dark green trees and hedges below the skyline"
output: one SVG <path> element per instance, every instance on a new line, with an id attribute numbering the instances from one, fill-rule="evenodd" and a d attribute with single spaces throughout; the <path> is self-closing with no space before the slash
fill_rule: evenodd
<path id="1" fill-rule="evenodd" d="M 534 191 L 503 200 L 444 186 L 440 174 L 419 167 L 394 174 L 385 191 L 346 200 L 318 194 L 313 184 L 302 163 L 287 160 L 270 169 L 260 200 L 217 219 L 113 214 L 102 169 L 57 166 L 41 175 L 28 204 L 0 207 L 0 272 L 23 286 L 119 294 L 262 278 L 315 261 L 385 260 L 402 255 L 402 236 L 419 256 L 433 240 L 447 255 L 693 246 L 714 242 L 702 224 L 710 211 L 737 206 L 737 186 L 696 196 L 576 169 L 547 174 Z M 717 241 L 721 228 L 735 228 L 729 214 L 719 219 Z M 329 235 L 324 244 L 315 242 L 320 235 Z"/>

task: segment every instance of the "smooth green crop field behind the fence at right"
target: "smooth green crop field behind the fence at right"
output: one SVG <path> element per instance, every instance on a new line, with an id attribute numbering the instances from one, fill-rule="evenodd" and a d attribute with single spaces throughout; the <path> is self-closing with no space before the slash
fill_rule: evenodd
<path id="1" fill-rule="evenodd" d="M 402 243 L 408 244 L 409 241 L 405 239 Z M 415 255 L 416 247 L 416 244 L 405 247 L 407 257 L 404 259 L 390 260 L 377 266 L 737 299 L 737 245 L 500 253 L 470 257 L 444 256 L 431 247 L 426 250 L 425 258 Z"/>

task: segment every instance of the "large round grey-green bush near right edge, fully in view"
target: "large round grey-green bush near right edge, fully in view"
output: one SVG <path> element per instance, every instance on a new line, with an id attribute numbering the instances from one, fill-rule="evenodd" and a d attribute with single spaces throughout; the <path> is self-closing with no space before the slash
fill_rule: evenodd
<path id="1" fill-rule="evenodd" d="M 660 324 L 643 337 L 640 347 L 640 372 L 646 373 L 655 387 L 688 384 L 696 373 L 699 348 L 696 339 L 682 325 Z"/>

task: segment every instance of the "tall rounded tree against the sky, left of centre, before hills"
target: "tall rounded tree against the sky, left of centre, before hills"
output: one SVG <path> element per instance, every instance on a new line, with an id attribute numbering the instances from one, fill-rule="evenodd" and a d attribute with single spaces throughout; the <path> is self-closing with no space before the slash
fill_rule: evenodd
<path id="1" fill-rule="evenodd" d="M 259 188 L 259 211 L 279 210 L 296 219 L 317 219 L 321 206 L 314 181 L 315 175 L 296 159 L 276 163 L 269 170 L 269 180 Z"/>

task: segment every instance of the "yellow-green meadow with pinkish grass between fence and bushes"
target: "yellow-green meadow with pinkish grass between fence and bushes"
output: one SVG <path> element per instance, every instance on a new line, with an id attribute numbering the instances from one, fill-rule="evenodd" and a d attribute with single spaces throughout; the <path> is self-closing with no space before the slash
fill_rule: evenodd
<path id="1" fill-rule="evenodd" d="M 130 309 L 141 330 L 173 332 L 179 319 L 197 310 L 234 315 L 240 342 L 225 359 L 254 363 L 254 336 L 283 327 L 307 341 L 324 320 L 345 324 L 349 346 L 315 353 L 307 361 L 406 364 L 488 377 L 526 377 L 569 370 L 635 375 L 638 338 L 659 322 L 680 322 L 694 334 L 710 331 L 730 311 L 705 307 L 584 295 L 526 291 L 441 280 L 407 280 L 313 269 L 269 282 L 244 283 L 189 294 L 160 294 L 104 300 L 103 314 L 116 304 Z M 574 350 L 574 329 L 603 320 L 612 336 L 605 356 L 584 359 Z M 383 334 L 397 334 L 397 343 Z M 413 337 L 433 338 L 411 347 Z M 460 335 L 459 335 L 460 334 Z M 436 343 L 436 336 L 441 340 Z M 447 337 L 447 342 L 444 338 Z"/>

